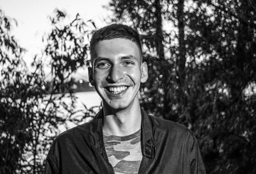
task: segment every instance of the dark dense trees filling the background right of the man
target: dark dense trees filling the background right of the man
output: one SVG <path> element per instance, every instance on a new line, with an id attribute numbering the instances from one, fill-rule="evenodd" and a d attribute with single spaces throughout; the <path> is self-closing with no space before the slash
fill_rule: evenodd
<path id="1" fill-rule="evenodd" d="M 141 89 L 142 105 L 195 132 L 207 173 L 256 171 L 255 4 L 109 3 L 114 22 L 132 24 L 141 34 L 150 74 Z"/>

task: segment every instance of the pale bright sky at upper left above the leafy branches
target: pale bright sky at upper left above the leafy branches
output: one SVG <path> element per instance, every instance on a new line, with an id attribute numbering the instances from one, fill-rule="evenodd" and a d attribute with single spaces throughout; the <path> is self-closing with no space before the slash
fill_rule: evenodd
<path id="1" fill-rule="evenodd" d="M 103 19 L 111 15 L 111 12 L 103 8 L 108 5 L 109 1 L 0 0 L 0 9 L 6 16 L 17 20 L 18 26 L 13 26 L 12 34 L 20 46 L 27 50 L 24 54 L 24 61 L 30 65 L 35 54 L 40 53 L 43 48 L 42 36 L 51 29 L 48 17 L 53 15 L 54 9 L 58 8 L 67 12 L 70 20 L 79 13 L 82 19 L 92 19 L 100 28 L 106 25 Z M 79 74 L 84 73 L 86 72 L 81 71 Z"/>

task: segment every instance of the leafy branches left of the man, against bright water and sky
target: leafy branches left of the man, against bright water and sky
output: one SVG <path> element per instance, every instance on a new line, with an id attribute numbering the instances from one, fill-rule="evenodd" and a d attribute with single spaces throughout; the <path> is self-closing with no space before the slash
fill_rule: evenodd
<path id="1" fill-rule="evenodd" d="M 12 19 L 0 10 L 0 173 L 42 173 L 43 162 L 58 125 L 67 121 L 81 123 L 93 109 L 77 111 L 72 91 L 72 74 L 86 63 L 90 22 L 77 14 L 67 25 L 61 24 L 65 13 L 55 10 L 50 17 L 52 31 L 45 36 L 43 54 L 33 61 L 29 71 L 10 29 Z M 47 82 L 45 59 L 51 67 Z M 2 162 L 3 161 L 3 162 Z"/>

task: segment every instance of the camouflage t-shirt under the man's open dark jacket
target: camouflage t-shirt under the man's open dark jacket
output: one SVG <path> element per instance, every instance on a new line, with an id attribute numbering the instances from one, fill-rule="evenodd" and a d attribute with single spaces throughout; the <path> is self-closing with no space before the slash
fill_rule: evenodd
<path id="1" fill-rule="evenodd" d="M 142 159 L 140 130 L 129 136 L 103 135 L 108 161 L 116 174 L 138 173 Z"/>

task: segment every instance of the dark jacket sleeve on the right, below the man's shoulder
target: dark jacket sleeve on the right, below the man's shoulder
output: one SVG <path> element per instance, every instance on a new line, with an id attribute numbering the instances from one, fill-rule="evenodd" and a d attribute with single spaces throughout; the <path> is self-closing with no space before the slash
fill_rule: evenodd
<path id="1" fill-rule="evenodd" d="M 195 135 L 191 132 L 188 138 L 188 156 L 191 174 L 205 174 L 204 162 Z"/>

